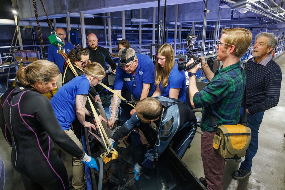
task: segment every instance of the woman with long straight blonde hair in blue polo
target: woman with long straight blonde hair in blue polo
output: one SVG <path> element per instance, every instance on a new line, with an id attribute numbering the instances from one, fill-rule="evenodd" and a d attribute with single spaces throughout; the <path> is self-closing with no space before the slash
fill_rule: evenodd
<path id="1" fill-rule="evenodd" d="M 156 90 L 152 96 L 164 96 L 186 102 L 186 75 L 178 71 L 174 51 L 169 44 L 162 44 L 156 50 Z"/>

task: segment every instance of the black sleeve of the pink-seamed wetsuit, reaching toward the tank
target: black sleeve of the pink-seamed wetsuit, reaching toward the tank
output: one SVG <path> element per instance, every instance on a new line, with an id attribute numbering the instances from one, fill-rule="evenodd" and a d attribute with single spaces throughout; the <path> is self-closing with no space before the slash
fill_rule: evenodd
<path id="1" fill-rule="evenodd" d="M 34 97 L 34 102 L 37 104 L 30 105 L 30 108 L 34 111 L 34 115 L 48 133 L 50 138 L 56 143 L 62 150 L 68 154 L 76 157 L 78 160 L 84 157 L 84 151 L 79 148 L 74 141 L 68 135 L 64 133 L 60 124 L 58 123 L 56 116 L 53 112 L 52 105 L 46 96 L 39 94 Z M 42 109 L 45 108 L 45 109 Z"/>

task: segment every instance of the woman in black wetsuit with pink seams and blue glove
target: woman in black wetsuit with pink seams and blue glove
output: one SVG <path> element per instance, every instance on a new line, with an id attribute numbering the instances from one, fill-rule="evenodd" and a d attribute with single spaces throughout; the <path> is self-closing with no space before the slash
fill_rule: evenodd
<path id="1" fill-rule="evenodd" d="M 62 131 L 50 101 L 42 95 L 56 88 L 59 73 L 54 63 L 35 61 L 19 68 L 19 84 L 1 97 L 0 126 L 12 147 L 12 166 L 22 175 L 27 190 L 69 189 L 66 168 L 54 143 L 98 170 L 95 160 Z"/>

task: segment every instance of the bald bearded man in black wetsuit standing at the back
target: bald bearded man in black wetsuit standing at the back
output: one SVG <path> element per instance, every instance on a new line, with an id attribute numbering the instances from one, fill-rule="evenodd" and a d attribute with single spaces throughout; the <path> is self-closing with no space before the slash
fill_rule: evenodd
<path id="1" fill-rule="evenodd" d="M 86 47 L 86 49 L 88 49 L 89 53 L 89 59 L 91 60 L 91 62 L 97 62 L 100 63 L 102 65 L 102 67 L 105 69 L 105 71 L 107 71 L 109 68 L 106 65 L 106 61 L 109 63 L 109 65 L 111 66 L 113 72 L 116 72 L 117 69 L 117 65 L 115 63 L 115 61 L 113 61 L 113 58 L 111 57 L 110 52 L 101 47 L 98 46 L 98 38 L 95 34 L 90 33 L 87 36 L 87 43 L 88 43 L 88 47 Z M 105 77 L 102 80 L 103 84 L 107 84 L 107 78 Z M 96 90 L 99 93 L 99 95 L 103 94 L 105 92 L 104 88 L 99 85 L 96 86 Z"/>

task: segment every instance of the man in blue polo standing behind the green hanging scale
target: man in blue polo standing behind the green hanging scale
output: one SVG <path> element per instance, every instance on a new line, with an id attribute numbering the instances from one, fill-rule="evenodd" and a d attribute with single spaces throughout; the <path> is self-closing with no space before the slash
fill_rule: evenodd
<path id="1" fill-rule="evenodd" d="M 70 50 L 74 48 L 74 45 L 64 40 L 66 37 L 65 30 L 63 28 L 58 28 L 56 29 L 56 34 L 62 39 L 62 42 L 64 43 L 64 46 L 62 46 L 62 48 L 64 48 L 65 52 L 68 54 Z M 62 86 L 62 71 L 65 60 L 62 55 L 58 54 L 58 48 L 54 45 L 50 45 L 48 47 L 48 61 L 54 62 L 60 70 L 59 79 L 56 82 L 56 88 L 59 89 Z"/>

